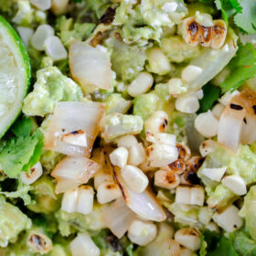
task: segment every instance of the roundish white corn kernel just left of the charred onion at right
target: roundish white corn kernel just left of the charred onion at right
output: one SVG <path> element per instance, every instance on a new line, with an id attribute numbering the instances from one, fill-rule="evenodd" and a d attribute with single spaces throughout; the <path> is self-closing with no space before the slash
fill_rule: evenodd
<path id="1" fill-rule="evenodd" d="M 195 128 L 198 133 L 210 138 L 218 133 L 219 120 L 213 116 L 212 112 L 202 112 L 195 119 Z"/>

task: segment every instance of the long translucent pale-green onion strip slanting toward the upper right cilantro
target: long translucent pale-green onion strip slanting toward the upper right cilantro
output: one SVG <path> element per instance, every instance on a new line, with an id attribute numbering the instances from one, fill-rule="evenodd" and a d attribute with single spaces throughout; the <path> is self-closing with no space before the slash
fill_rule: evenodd
<path id="1" fill-rule="evenodd" d="M 236 54 L 237 47 L 237 37 L 234 35 L 229 35 L 229 40 L 226 44 L 219 49 L 207 48 L 203 53 L 197 58 L 193 59 L 188 65 L 194 65 L 201 68 L 203 71 L 197 76 L 195 80 L 189 82 L 190 91 L 197 91 L 203 85 L 212 80 L 234 57 Z"/>

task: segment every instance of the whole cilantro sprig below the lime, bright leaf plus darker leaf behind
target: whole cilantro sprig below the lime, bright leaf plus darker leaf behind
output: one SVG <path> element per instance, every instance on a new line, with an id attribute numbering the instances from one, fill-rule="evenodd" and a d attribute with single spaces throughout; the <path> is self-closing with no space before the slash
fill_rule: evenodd
<path id="1" fill-rule="evenodd" d="M 39 161 L 44 134 L 39 129 L 32 133 L 32 127 L 32 121 L 23 118 L 12 130 L 16 136 L 2 142 L 0 164 L 6 176 L 16 177 L 21 171 L 29 171 Z"/>

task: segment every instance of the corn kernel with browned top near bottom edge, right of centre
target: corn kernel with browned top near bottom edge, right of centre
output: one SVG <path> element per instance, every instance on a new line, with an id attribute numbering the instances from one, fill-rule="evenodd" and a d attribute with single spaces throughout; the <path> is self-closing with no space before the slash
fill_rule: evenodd
<path id="1" fill-rule="evenodd" d="M 176 231 L 175 240 L 191 251 L 200 248 L 201 233 L 197 228 L 185 228 Z"/>

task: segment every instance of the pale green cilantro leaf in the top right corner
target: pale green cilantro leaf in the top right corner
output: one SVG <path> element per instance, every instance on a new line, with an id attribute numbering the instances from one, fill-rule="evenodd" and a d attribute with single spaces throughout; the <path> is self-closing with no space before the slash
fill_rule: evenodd
<path id="1" fill-rule="evenodd" d="M 256 1 L 240 0 L 240 5 L 242 12 L 234 17 L 236 26 L 248 34 L 256 33 Z"/>

